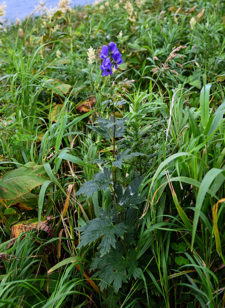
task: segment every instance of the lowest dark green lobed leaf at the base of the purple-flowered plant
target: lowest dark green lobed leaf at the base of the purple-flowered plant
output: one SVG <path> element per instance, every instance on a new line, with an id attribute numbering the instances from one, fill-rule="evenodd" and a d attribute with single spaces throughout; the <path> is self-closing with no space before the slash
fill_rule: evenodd
<path id="1" fill-rule="evenodd" d="M 140 276 L 138 261 L 135 259 L 135 250 L 129 250 L 126 258 L 123 257 L 116 249 L 111 249 L 110 253 L 100 257 L 100 253 L 96 253 L 93 258 L 91 270 L 99 269 L 94 277 L 101 279 L 99 286 L 101 290 L 106 289 L 107 285 L 111 285 L 115 292 L 119 291 L 122 281 L 127 282 L 131 278 L 137 279 Z"/>

